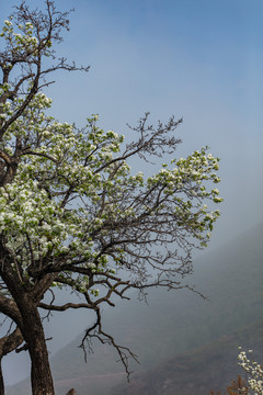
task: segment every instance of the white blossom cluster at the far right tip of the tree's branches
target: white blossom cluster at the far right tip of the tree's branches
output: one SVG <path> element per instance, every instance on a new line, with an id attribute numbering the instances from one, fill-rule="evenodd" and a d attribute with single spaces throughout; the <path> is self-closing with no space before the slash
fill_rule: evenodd
<path id="1" fill-rule="evenodd" d="M 196 150 L 187 158 L 173 159 L 172 169 L 164 163 L 162 169 L 148 179 L 148 187 L 157 183 L 164 185 L 163 192 L 171 195 L 169 202 L 174 203 L 174 213 L 178 224 L 192 229 L 192 235 L 206 246 L 210 237 L 213 224 L 219 216 L 219 211 L 209 211 L 205 199 L 214 203 L 222 202 L 217 188 L 206 189 L 208 184 L 220 182 L 216 174 L 219 166 L 219 158 L 207 154 L 208 147 Z"/>

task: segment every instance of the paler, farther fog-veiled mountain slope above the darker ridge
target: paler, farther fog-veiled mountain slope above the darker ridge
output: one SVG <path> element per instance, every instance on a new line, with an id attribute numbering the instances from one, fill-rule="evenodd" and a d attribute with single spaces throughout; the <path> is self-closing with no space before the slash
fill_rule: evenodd
<path id="1" fill-rule="evenodd" d="M 190 281 L 209 302 L 190 291 L 153 290 L 149 305 L 130 301 L 105 311 L 107 330 L 139 356 L 141 364 L 134 366 L 136 372 L 230 336 L 263 317 L 262 235 L 263 224 L 194 262 Z M 117 357 L 111 348 L 94 345 L 95 353 L 88 356 L 85 364 L 79 343 L 80 337 L 52 360 L 58 395 L 70 386 L 78 395 L 107 394 L 112 385 L 124 381 L 123 368 L 115 363 Z M 12 387 L 9 394 L 26 394 L 22 388 L 22 384 Z"/>

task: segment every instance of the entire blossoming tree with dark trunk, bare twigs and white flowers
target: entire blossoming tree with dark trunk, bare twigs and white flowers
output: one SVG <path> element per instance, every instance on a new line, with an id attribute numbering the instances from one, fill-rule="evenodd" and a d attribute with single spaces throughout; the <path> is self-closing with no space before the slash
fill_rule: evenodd
<path id="1" fill-rule="evenodd" d="M 94 312 L 83 348 L 92 337 L 112 343 L 128 372 L 133 353 L 103 330 L 100 306 L 129 289 L 188 286 L 191 251 L 206 246 L 219 216 L 214 203 L 222 201 L 214 187 L 219 159 L 207 147 L 175 157 L 182 120 L 153 126 L 146 114 L 125 145 L 96 114 L 84 127 L 48 115 L 49 75 L 89 67 L 56 57 L 68 12 L 49 0 L 45 7 L 32 11 L 22 1 L 0 34 L 0 312 L 16 327 L 9 352 L 25 342 L 37 395 L 54 394 L 42 312 Z M 144 167 L 168 155 L 148 178 L 130 168 L 133 158 Z M 80 302 L 56 304 L 55 287 L 71 289 Z"/>

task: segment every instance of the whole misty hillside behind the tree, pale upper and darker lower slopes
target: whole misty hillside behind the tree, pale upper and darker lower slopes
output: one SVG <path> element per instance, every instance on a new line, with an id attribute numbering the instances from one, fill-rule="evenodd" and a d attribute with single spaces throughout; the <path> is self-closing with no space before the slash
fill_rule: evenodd
<path id="1" fill-rule="evenodd" d="M 138 385 L 141 395 L 147 391 L 155 394 L 150 385 L 153 379 L 159 393 L 165 386 L 165 395 L 194 395 L 192 390 L 183 393 L 186 383 L 194 387 L 197 383 L 204 387 L 209 384 L 214 390 L 219 390 L 221 383 L 226 387 L 227 372 L 235 373 L 230 366 L 236 369 L 237 347 L 256 350 L 263 343 L 259 324 L 263 317 L 262 235 L 263 224 L 195 261 L 195 273 L 190 280 L 209 302 L 190 291 L 153 290 L 148 296 L 149 305 L 135 300 L 104 312 L 107 330 L 115 334 L 118 343 L 139 356 L 140 365 L 133 365 L 135 374 L 129 386 L 111 348 L 94 345 L 94 354 L 88 356 L 85 364 L 78 337 L 52 359 L 57 394 L 65 394 L 72 386 L 78 395 L 115 394 L 113 387 L 116 394 L 138 394 Z M 209 382 L 202 384 L 208 368 Z M 179 381 L 176 371 L 182 370 Z M 116 388 L 117 384 L 124 386 Z M 23 385 L 9 388 L 8 394 L 30 393 Z"/>

